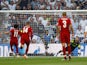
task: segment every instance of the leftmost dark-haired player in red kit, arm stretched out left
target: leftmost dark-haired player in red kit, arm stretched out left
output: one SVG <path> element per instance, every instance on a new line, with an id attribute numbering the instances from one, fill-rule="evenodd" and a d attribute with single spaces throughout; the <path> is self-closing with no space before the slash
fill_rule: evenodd
<path id="1" fill-rule="evenodd" d="M 6 34 L 10 33 L 10 47 L 11 51 L 13 51 L 13 46 L 16 47 L 16 55 L 17 57 L 19 56 L 18 54 L 18 35 L 21 35 L 21 32 L 18 30 L 18 25 L 14 24 L 14 28 L 10 30 L 10 32 L 5 32 Z"/>

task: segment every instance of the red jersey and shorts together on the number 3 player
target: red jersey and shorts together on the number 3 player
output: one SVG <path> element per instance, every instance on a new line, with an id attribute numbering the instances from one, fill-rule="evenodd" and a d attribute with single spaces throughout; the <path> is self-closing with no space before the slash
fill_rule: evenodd
<path id="1" fill-rule="evenodd" d="M 58 20 L 58 26 L 61 27 L 60 40 L 62 43 L 70 43 L 70 25 L 71 21 L 69 18 L 62 17 Z"/>

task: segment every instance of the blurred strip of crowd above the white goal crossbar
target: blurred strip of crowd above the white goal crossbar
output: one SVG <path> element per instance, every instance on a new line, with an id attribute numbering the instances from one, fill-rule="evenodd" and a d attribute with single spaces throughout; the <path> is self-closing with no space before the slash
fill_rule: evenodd
<path id="1" fill-rule="evenodd" d="M 0 10 L 86 10 L 87 0 L 0 0 Z"/>

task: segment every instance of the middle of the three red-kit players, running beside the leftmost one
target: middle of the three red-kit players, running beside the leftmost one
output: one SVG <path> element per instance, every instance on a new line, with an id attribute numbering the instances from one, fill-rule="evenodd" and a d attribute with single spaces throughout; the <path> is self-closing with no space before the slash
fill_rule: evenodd
<path id="1" fill-rule="evenodd" d="M 33 36 L 32 28 L 30 27 L 30 23 L 27 22 L 26 25 L 23 27 L 22 36 L 21 36 L 21 48 L 23 48 L 24 44 L 26 44 L 27 46 L 26 52 L 24 54 L 24 58 L 27 58 L 28 48 L 29 48 L 32 36 Z"/>

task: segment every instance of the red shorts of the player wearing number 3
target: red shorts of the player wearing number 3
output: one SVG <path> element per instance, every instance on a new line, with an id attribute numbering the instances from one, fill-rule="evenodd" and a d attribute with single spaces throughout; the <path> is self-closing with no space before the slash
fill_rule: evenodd
<path id="1" fill-rule="evenodd" d="M 61 43 L 70 43 L 70 33 L 60 33 L 60 41 Z"/>

